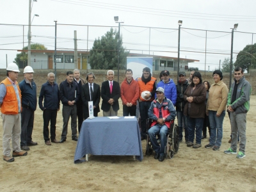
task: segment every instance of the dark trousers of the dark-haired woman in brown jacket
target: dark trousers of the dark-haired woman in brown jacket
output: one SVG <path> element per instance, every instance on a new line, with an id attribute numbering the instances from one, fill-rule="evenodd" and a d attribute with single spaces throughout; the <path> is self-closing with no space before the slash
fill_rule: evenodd
<path id="1" fill-rule="evenodd" d="M 187 116 L 188 122 L 188 140 L 194 142 L 196 129 L 196 143 L 201 144 L 202 129 L 204 125 L 204 118 L 191 118 Z"/>

